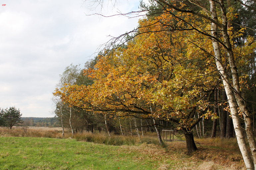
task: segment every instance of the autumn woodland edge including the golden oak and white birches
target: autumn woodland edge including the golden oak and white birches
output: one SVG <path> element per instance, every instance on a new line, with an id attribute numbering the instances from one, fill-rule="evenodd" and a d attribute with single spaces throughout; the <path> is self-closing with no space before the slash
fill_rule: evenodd
<path id="1" fill-rule="evenodd" d="M 152 128 L 160 143 L 160 128 L 172 128 L 192 153 L 194 135 L 207 135 L 210 124 L 211 137 L 217 129 L 235 134 L 247 169 L 256 168 L 254 2 L 150 2 L 123 42 L 114 40 L 82 70 L 65 69 L 54 92 L 62 126 L 138 135 Z"/>

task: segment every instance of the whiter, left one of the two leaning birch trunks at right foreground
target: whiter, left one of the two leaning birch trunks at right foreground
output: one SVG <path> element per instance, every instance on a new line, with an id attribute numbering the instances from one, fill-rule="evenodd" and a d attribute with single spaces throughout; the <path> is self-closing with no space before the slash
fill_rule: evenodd
<path id="1" fill-rule="evenodd" d="M 210 9 L 211 9 L 211 18 L 214 19 L 216 22 L 218 22 L 215 1 L 209 0 L 209 2 L 210 2 Z M 216 30 L 218 30 L 217 25 L 214 23 L 211 23 L 211 35 L 212 35 L 212 37 L 217 39 L 218 37 L 217 37 Z M 224 36 L 226 36 L 226 35 L 223 35 L 223 37 Z M 224 85 L 224 88 L 225 88 L 225 91 L 227 94 L 227 99 L 228 99 L 228 103 L 229 103 L 229 107 L 230 107 L 230 111 L 231 111 L 231 115 L 232 115 L 232 120 L 233 120 L 233 125 L 234 125 L 234 129 L 235 129 L 235 133 L 236 133 L 237 142 L 238 142 L 240 151 L 242 153 L 246 168 L 253 170 L 254 164 L 251 159 L 249 150 L 246 147 L 245 138 L 243 136 L 243 131 L 242 131 L 241 125 L 240 125 L 235 96 L 232 91 L 233 89 L 229 84 L 229 78 L 228 78 L 227 74 L 225 73 L 225 68 L 222 65 L 222 58 L 221 58 L 219 43 L 214 38 L 212 38 L 212 46 L 213 46 L 213 50 L 214 50 L 216 66 L 217 66 L 217 69 L 222 77 L 222 82 L 223 82 L 223 85 Z M 232 63 L 231 63 L 231 65 L 232 65 Z"/>

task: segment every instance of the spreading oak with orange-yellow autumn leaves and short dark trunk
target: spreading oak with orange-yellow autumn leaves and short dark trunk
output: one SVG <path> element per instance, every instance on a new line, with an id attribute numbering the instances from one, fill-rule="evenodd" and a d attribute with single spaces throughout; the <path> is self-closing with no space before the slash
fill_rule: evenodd
<path id="1" fill-rule="evenodd" d="M 219 80 L 213 58 L 207 58 L 210 52 L 198 51 L 194 58 L 193 30 L 182 33 L 162 27 L 174 19 L 164 13 L 154 20 L 141 20 L 138 32 L 145 34 L 137 35 L 125 48 L 103 52 L 94 69 L 85 70 L 93 84 L 65 86 L 55 95 L 110 117 L 170 122 L 169 128 L 184 132 L 188 153 L 192 153 L 197 149 L 192 128 L 202 116 L 211 116 L 210 97 Z M 207 46 L 210 41 L 197 43 Z M 166 127 L 156 122 L 149 126 Z"/>

